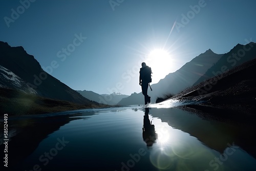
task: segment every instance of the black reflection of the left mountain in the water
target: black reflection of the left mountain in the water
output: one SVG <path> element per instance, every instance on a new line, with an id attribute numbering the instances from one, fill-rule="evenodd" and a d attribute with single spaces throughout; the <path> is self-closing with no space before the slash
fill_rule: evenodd
<path id="1" fill-rule="evenodd" d="M 87 115 L 93 115 L 89 113 Z M 79 114 L 81 115 L 81 114 Z M 11 170 L 20 170 L 24 160 L 30 156 L 39 146 L 39 144 L 49 137 L 50 134 L 57 132 L 63 125 L 68 124 L 79 118 L 69 117 L 72 115 L 57 115 L 44 117 L 39 116 L 20 116 L 10 117 L 8 120 L 9 142 L 8 142 L 8 165 Z M 1 123 L 2 124 L 2 123 Z M 0 134 L 3 140 L 3 135 Z M 1 149 L 4 144 L 0 142 Z M 39 156 L 35 158 L 38 159 Z"/>

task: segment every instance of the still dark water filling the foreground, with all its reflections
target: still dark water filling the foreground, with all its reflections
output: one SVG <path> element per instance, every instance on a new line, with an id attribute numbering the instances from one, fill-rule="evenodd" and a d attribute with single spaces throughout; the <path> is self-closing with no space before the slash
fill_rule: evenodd
<path id="1" fill-rule="evenodd" d="M 157 104 L 9 117 L 8 168 L 256 170 L 255 132 Z"/>

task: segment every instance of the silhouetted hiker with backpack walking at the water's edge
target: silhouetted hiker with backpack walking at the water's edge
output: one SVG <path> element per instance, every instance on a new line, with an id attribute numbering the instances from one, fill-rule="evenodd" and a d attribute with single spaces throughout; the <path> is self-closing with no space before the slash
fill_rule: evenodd
<path id="1" fill-rule="evenodd" d="M 141 63 L 142 68 L 140 68 L 140 86 L 142 89 L 142 94 L 144 95 L 145 104 L 150 103 L 150 96 L 147 95 L 148 84 L 152 81 L 151 79 L 151 68 L 146 66 L 145 62 Z M 152 90 L 152 89 L 151 89 Z"/>

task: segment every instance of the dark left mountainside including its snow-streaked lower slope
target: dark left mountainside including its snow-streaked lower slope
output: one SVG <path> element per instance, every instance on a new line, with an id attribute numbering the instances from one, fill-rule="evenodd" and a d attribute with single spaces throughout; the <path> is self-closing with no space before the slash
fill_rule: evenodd
<path id="1" fill-rule="evenodd" d="M 33 93 L 54 100 L 97 106 L 66 84 L 42 70 L 39 62 L 23 47 L 10 47 L 0 41 L 0 86 Z"/>

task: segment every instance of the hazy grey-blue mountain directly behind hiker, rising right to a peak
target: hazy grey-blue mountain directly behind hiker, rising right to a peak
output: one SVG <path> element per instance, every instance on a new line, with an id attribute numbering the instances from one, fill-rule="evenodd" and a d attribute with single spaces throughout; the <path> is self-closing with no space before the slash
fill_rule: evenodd
<path id="1" fill-rule="evenodd" d="M 154 103 L 159 96 L 165 94 L 177 94 L 193 84 L 204 73 L 214 65 L 222 54 L 216 54 L 210 49 L 205 53 L 200 54 L 191 61 L 185 63 L 179 70 L 174 73 L 170 73 L 161 79 L 158 83 L 152 84 L 153 91 L 148 91 L 148 95 L 151 96 L 151 101 Z M 154 76 L 153 76 L 154 79 Z M 132 94 L 131 96 L 122 99 L 119 105 L 131 105 L 131 104 L 143 104 L 142 93 Z"/>

